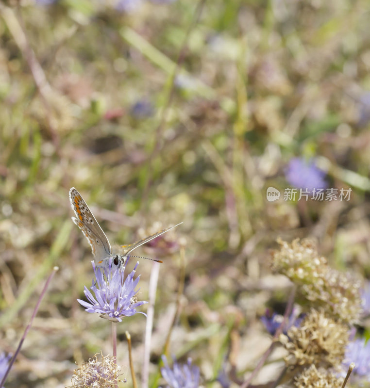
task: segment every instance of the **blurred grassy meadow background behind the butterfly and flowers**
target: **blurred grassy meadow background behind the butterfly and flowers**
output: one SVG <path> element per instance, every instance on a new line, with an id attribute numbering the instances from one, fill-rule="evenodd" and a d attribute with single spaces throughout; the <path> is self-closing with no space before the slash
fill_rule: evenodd
<path id="1" fill-rule="evenodd" d="M 64 387 L 75 362 L 111 353 L 109 324 L 76 301 L 93 273 L 71 186 L 111 242 L 184 222 L 166 237 L 185 245 L 184 295 L 179 251 L 162 255 L 151 373 L 177 303 L 170 353 L 204 386 L 224 363 L 253 370 L 270 343 L 259 317 L 287 300 L 269 269 L 279 236 L 314 237 L 332 265 L 370 275 L 368 1 L 14 0 L 0 16 L 2 350 L 60 267 L 6 387 Z M 350 200 L 268 202 L 269 186 L 294 186 L 296 157 Z M 118 362 L 129 330 L 138 374 L 144 325 L 118 325 Z"/>

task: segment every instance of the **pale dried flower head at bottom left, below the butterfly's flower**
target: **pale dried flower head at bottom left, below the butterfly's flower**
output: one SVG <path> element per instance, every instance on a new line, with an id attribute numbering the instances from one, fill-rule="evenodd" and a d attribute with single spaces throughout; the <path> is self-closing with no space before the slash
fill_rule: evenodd
<path id="1" fill-rule="evenodd" d="M 115 387 L 118 382 L 122 382 L 118 379 L 121 374 L 121 367 L 116 364 L 115 357 L 101 354 L 101 361 L 99 361 L 98 356 L 95 355 L 73 371 L 72 385 L 66 388 Z"/>

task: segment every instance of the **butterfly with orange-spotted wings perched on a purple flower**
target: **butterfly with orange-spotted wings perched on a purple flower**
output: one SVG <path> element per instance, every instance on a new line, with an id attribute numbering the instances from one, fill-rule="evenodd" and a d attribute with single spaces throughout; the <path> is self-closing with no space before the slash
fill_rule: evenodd
<path id="1" fill-rule="evenodd" d="M 167 229 L 160 230 L 152 234 L 151 236 L 146 237 L 145 239 L 134 242 L 133 244 L 128 245 L 114 245 L 113 249 L 109 243 L 107 236 L 101 229 L 98 221 L 93 216 L 91 210 L 86 205 L 84 198 L 81 194 L 72 187 L 69 190 L 69 201 L 71 208 L 73 209 L 76 217 L 72 217 L 72 221 L 81 229 L 86 237 L 87 241 L 91 246 L 91 250 L 95 258 L 99 263 L 107 263 L 109 259 L 112 258 L 113 264 L 119 267 L 123 267 L 128 260 L 130 253 L 137 247 L 155 239 L 156 237 L 162 235 L 163 233 L 168 232 L 168 230 L 173 229 L 174 227 L 182 224 L 179 223 L 174 226 L 170 226 Z M 161 260 L 155 260 L 162 262 Z"/>

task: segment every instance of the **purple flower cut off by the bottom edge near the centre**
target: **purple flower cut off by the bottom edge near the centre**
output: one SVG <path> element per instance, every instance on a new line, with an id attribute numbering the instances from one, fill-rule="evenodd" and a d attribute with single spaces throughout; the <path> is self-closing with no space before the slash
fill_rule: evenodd
<path id="1" fill-rule="evenodd" d="M 166 356 L 162 356 L 165 364 L 161 368 L 163 378 L 166 380 L 169 388 L 198 388 L 199 387 L 199 368 L 191 365 L 191 358 L 187 359 L 187 364 L 178 364 L 173 358 L 172 368 L 168 366 Z"/>

